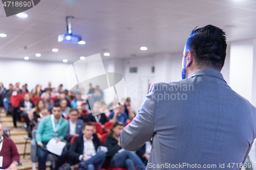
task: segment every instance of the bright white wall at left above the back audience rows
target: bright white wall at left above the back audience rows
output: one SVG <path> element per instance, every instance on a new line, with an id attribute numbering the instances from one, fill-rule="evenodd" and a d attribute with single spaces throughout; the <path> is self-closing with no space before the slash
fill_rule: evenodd
<path id="1" fill-rule="evenodd" d="M 41 84 L 42 89 L 45 89 L 49 81 L 52 87 L 57 88 L 62 84 L 62 89 L 67 89 L 65 71 L 69 65 L 69 63 L 0 59 L 0 82 L 3 82 L 7 89 L 9 83 L 17 82 L 20 83 L 20 88 L 27 83 L 29 90 L 35 88 L 37 84 Z"/>

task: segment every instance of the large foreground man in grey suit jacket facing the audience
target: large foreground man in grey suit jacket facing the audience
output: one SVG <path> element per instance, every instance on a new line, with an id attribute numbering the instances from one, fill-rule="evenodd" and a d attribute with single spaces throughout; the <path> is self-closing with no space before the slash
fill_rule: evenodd
<path id="1" fill-rule="evenodd" d="M 184 80 L 151 85 L 120 136 L 129 151 L 153 137 L 146 169 L 241 169 L 256 134 L 256 108 L 220 73 L 226 46 L 222 29 L 194 29 L 183 52 Z"/>

